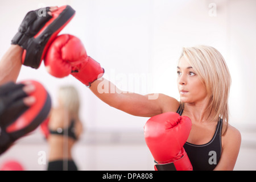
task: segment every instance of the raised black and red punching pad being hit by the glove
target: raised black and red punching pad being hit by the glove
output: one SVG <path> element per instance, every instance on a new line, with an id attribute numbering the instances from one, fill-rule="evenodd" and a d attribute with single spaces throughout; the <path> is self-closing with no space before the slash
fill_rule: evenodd
<path id="1" fill-rule="evenodd" d="M 75 15 L 69 5 L 59 7 L 52 16 L 48 12 L 49 7 L 28 12 L 11 40 L 24 48 L 23 65 L 39 68 L 49 44 Z"/>

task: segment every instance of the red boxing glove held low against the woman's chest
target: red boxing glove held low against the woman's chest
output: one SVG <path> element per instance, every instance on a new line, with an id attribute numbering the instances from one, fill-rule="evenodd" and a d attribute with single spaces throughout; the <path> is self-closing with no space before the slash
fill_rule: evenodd
<path id="1" fill-rule="evenodd" d="M 192 170 L 183 148 L 191 126 L 188 117 L 171 112 L 148 119 L 144 126 L 144 138 L 152 156 L 158 162 L 155 170 Z"/>

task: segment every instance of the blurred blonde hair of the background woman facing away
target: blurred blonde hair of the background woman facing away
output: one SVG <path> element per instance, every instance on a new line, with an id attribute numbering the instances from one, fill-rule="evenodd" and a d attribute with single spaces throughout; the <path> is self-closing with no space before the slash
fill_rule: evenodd
<path id="1" fill-rule="evenodd" d="M 70 114 L 79 116 L 79 93 L 74 86 L 61 86 L 58 91 L 58 97 L 61 105 L 68 110 Z"/>

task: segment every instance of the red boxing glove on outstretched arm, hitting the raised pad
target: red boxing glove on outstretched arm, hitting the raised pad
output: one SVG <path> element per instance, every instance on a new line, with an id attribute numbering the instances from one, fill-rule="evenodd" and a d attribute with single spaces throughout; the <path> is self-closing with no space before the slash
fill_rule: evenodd
<path id="1" fill-rule="evenodd" d="M 44 64 L 52 76 L 62 78 L 71 74 L 86 86 L 104 74 L 101 65 L 87 56 L 81 40 L 68 34 L 60 35 L 53 41 Z"/>

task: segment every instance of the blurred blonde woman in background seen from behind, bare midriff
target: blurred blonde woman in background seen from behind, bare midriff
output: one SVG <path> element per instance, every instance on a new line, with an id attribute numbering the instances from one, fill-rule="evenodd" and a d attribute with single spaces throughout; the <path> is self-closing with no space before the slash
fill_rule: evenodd
<path id="1" fill-rule="evenodd" d="M 79 94 L 73 86 L 62 86 L 58 96 L 59 105 L 52 109 L 48 122 L 48 171 L 77 171 L 72 148 L 82 133 Z"/>

